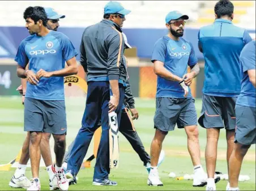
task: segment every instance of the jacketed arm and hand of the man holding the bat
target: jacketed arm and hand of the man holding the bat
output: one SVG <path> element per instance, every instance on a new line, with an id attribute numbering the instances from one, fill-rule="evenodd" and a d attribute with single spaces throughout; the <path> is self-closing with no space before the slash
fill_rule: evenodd
<path id="1" fill-rule="evenodd" d="M 112 36 L 112 39 L 109 41 L 109 49 L 108 49 L 108 63 L 107 63 L 107 72 L 109 78 L 109 84 L 113 93 L 113 96 L 109 101 L 109 112 L 116 110 L 119 99 L 119 65 L 120 59 L 122 58 L 122 50 L 123 50 L 123 38 L 121 33 L 115 33 Z"/>

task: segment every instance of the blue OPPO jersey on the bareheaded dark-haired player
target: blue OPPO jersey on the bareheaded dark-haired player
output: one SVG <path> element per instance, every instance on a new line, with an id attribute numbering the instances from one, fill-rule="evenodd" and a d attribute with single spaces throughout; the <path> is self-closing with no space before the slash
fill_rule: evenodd
<path id="1" fill-rule="evenodd" d="M 33 34 L 25 38 L 18 49 L 15 61 L 23 68 L 29 62 L 29 70 L 46 72 L 65 68 L 65 61 L 78 55 L 65 34 L 50 31 L 41 37 Z M 25 97 L 41 100 L 64 100 L 63 77 L 41 77 L 37 85 L 27 83 Z"/>

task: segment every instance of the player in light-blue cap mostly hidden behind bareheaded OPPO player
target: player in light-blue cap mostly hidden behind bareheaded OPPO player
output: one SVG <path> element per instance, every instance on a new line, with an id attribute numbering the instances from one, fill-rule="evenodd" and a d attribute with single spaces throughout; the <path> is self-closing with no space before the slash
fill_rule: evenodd
<path id="1" fill-rule="evenodd" d="M 57 31 L 59 27 L 59 19 L 65 18 L 65 15 L 59 15 L 56 11 L 53 10 L 53 8 L 46 7 L 44 8 L 48 21 L 46 23 L 47 28 L 49 30 Z M 29 31 L 29 34 L 33 34 L 32 31 Z M 29 65 L 29 64 L 28 64 Z M 27 69 L 28 69 L 27 65 Z M 21 79 L 22 85 L 19 86 L 18 90 L 19 93 L 22 94 L 22 103 L 24 104 L 24 98 L 25 98 L 25 92 L 27 89 L 27 79 Z M 49 180 L 50 180 L 50 189 L 53 189 L 53 185 L 57 185 L 57 176 L 53 172 L 54 167 L 52 167 L 52 156 L 50 153 L 50 133 L 43 132 L 42 133 L 42 140 L 40 144 L 41 148 L 41 155 L 42 158 L 44 159 L 44 163 L 46 166 L 46 171 L 48 172 L 49 175 Z M 14 176 L 12 176 L 9 185 L 12 188 L 28 188 L 31 185 L 31 182 L 25 177 L 25 170 L 27 168 L 27 163 L 29 160 L 29 132 L 27 133 L 27 136 L 25 138 L 25 141 L 23 143 L 22 147 L 22 154 L 20 156 L 19 164 L 18 167 L 16 168 L 16 171 L 14 173 Z M 55 181 L 55 183 L 53 183 Z"/>

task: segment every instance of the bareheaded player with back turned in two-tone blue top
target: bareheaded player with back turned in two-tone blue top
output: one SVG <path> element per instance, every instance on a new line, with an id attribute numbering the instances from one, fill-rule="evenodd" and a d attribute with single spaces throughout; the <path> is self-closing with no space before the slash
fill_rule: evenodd
<path id="1" fill-rule="evenodd" d="M 245 29 L 232 24 L 233 10 L 232 2 L 223 0 L 217 2 L 214 8 L 215 22 L 200 28 L 198 33 L 199 50 L 205 60 L 203 104 L 198 123 L 207 129 L 206 190 L 216 190 L 214 173 L 221 128 L 226 129 L 227 162 L 234 147 L 236 127 L 234 107 L 241 88 L 239 56 L 242 48 L 251 41 Z"/>

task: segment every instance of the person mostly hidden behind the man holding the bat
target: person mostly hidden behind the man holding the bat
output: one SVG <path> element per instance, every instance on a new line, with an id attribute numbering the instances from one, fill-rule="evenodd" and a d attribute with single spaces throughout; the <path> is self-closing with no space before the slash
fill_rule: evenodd
<path id="1" fill-rule="evenodd" d="M 125 33 L 123 34 L 123 38 L 125 41 L 125 49 L 130 49 L 131 45 L 128 44 L 127 37 Z M 122 62 L 125 64 L 126 68 L 128 66 L 127 59 L 123 55 Z M 129 110 L 131 112 L 131 116 L 129 114 Z M 126 86 L 125 86 L 125 98 L 124 103 L 122 106 L 122 114 L 121 114 L 121 120 L 120 120 L 120 128 L 119 132 L 123 134 L 123 136 L 126 137 L 126 139 L 130 142 L 133 149 L 136 151 L 136 153 L 139 155 L 140 160 L 142 160 L 144 167 L 146 167 L 148 173 L 150 172 L 150 155 L 146 152 L 142 141 L 140 140 L 139 134 L 136 132 L 136 129 L 133 124 L 133 120 L 137 120 L 139 118 L 139 113 L 135 108 L 135 100 L 133 97 L 133 93 L 131 92 L 131 86 L 129 83 L 129 75 L 127 73 L 126 77 Z M 100 127 L 101 123 L 98 124 Z M 67 151 L 63 163 L 63 167 L 67 166 L 67 162 L 70 159 L 70 152 L 72 147 L 74 146 L 74 141 L 70 144 L 69 150 Z M 157 164 L 157 167 L 160 166 L 160 164 L 164 160 L 164 151 L 161 151 L 159 162 Z M 79 167 L 80 168 L 80 167 Z M 75 172 L 75 176 L 78 174 L 78 171 Z M 76 179 L 70 179 L 70 184 L 76 184 Z"/>

